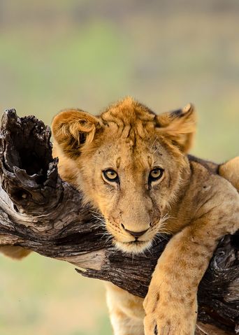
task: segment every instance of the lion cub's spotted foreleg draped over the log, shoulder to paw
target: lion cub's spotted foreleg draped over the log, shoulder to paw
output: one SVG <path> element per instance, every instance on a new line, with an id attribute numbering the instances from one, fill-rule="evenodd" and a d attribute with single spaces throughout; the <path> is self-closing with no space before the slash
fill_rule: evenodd
<path id="1" fill-rule="evenodd" d="M 219 238 L 239 229 L 239 194 L 223 178 L 215 181 L 216 192 L 159 258 L 144 301 L 145 335 L 195 333 L 198 284 Z"/>

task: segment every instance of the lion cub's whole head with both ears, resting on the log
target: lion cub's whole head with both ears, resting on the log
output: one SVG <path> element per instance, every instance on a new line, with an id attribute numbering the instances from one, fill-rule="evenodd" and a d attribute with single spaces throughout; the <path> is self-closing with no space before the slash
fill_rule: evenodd
<path id="1" fill-rule="evenodd" d="M 189 107 L 160 119 L 128 98 L 100 117 L 81 111 L 55 117 L 57 145 L 71 157 L 79 189 L 101 211 L 117 248 L 142 252 L 158 233 L 170 232 L 166 213 L 180 187 L 191 114 Z M 187 124 L 178 137 L 173 120 L 176 132 Z"/>

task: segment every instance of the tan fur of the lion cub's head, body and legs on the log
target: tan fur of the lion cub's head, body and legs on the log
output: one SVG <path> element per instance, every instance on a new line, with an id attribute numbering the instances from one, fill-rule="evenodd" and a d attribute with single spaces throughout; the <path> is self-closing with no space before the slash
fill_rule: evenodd
<path id="1" fill-rule="evenodd" d="M 52 122 L 62 178 L 82 190 L 102 215 L 117 248 L 143 252 L 157 234 L 175 234 L 144 304 L 108 284 L 116 335 L 194 334 L 198 283 L 219 238 L 239 228 L 238 158 L 219 167 L 235 187 L 213 173 L 210 164 L 189 159 L 195 124 L 191 105 L 158 116 L 130 97 L 99 117 L 68 110 Z M 155 166 L 164 175 L 150 185 Z M 105 180 L 106 169 L 116 171 L 119 180 Z M 129 231 L 145 233 L 136 242 Z"/>

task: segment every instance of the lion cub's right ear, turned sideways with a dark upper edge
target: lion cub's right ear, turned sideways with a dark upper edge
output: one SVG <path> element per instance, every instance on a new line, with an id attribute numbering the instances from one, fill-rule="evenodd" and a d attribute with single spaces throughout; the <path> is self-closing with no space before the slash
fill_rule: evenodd
<path id="1" fill-rule="evenodd" d="M 178 145 L 182 152 L 188 152 L 196 131 L 194 106 L 188 104 L 178 111 L 158 115 L 157 129 L 159 129 L 159 133 Z"/>

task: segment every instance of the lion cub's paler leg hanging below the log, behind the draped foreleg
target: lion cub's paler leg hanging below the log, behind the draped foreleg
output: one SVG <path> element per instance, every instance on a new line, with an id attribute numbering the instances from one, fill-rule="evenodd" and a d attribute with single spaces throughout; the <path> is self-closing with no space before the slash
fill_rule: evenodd
<path id="1" fill-rule="evenodd" d="M 107 283 L 107 304 L 115 335 L 143 335 L 143 299 Z"/>

